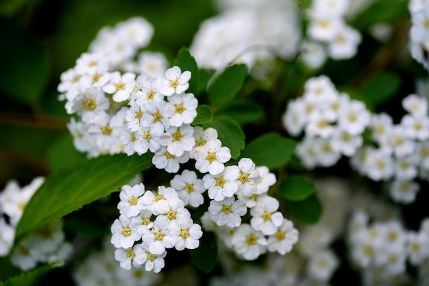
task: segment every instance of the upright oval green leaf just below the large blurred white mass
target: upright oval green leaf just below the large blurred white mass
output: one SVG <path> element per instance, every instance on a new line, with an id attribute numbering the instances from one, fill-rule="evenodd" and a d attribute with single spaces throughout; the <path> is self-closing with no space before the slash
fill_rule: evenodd
<path id="1" fill-rule="evenodd" d="M 212 108 L 220 109 L 238 94 L 247 76 L 245 64 L 228 66 L 208 87 L 208 100 Z"/>

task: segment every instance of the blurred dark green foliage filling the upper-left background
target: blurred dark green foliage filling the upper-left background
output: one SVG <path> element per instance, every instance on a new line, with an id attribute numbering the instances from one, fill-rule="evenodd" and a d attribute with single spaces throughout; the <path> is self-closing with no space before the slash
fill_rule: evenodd
<path id="1" fill-rule="evenodd" d="M 146 50 L 172 62 L 214 14 L 210 1 L 198 0 L 0 1 L 0 185 L 12 178 L 24 185 L 84 158 L 71 143 L 57 86 L 101 27 L 143 16 L 154 26 Z"/>

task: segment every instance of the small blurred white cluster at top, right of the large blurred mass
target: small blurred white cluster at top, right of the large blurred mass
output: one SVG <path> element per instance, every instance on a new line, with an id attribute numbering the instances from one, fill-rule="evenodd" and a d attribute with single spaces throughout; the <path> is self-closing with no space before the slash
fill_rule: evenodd
<path id="1" fill-rule="evenodd" d="M 345 21 L 349 6 L 349 0 L 312 0 L 302 47 L 302 60 L 310 68 L 318 68 L 327 57 L 343 60 L 356 54 L 362 37 Z"/>

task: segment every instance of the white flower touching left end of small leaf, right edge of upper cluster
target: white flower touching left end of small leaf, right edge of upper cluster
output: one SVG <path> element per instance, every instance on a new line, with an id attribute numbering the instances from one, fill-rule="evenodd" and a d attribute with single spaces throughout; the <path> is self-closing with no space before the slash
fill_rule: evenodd
<path id="1" fill-rule="evenodd" d="M 165 113 L 170 118 L 170 125 L 179 127 L 191 124 L 197 117 L 198 101 L 192 93 L 173 94 L 169 96 Z"/>

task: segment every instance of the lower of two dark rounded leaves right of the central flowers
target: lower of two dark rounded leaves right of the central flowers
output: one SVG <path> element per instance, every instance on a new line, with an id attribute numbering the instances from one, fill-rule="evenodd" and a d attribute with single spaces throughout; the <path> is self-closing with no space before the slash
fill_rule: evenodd
<path id="1" fill-rule="evenodd" d="M 321 218 L 323 211 L 316 193 L 310 194 L 305 200 L 285 200 L 285 204 L 293 220 L 302 224 L 315 224 Z"/>

